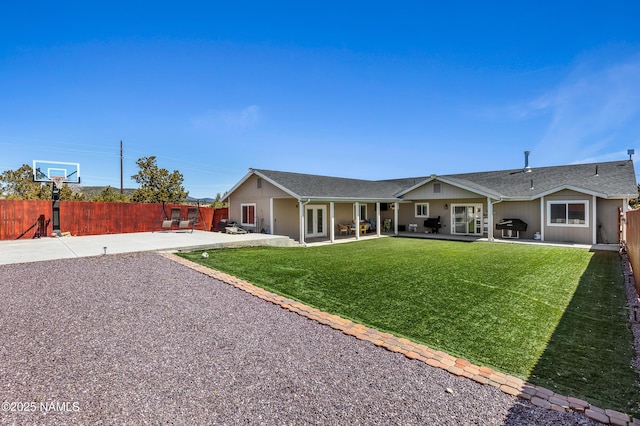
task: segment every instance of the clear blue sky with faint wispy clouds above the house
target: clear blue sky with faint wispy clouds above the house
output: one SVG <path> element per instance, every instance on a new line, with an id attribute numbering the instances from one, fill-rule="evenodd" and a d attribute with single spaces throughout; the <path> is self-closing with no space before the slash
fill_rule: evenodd
<path id="1" fill-rule="evenodd" d="M 122 140 L 126 187 L 155 155 L 204 198 L 249 167 L 389 179 L 640 155 L 637 1 L 12 3 L 0 171 L 72 161 L 119 187 Z"/>

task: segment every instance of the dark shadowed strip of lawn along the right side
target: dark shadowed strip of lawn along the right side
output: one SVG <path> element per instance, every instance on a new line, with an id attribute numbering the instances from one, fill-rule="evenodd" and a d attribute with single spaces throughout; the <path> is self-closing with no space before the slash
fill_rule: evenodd
<path id="1" fill-rule="evenodd" d="M 594 252 L 529 383 L 640 417 L 624 285 L 618 253 Z"/>

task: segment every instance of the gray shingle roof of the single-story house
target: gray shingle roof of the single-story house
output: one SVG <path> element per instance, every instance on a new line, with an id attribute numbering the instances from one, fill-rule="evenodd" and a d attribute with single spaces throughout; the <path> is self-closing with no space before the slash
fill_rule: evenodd
<path id="1" fill-rule="evenodd" d="M 397 201 L 398 194 L 433 178 L 372 181 L 274 170 L 253 171 L 299 198 L 325 200 Z M 638 194 L 633 162 L 627 160 L 537 167 L 531 172 L 512 169 L 462 173 L 442 175 L 440 178 L 459 187 L 502 199 L 535 199 L 562 188 L 606 197 L 635 198 Z"/>

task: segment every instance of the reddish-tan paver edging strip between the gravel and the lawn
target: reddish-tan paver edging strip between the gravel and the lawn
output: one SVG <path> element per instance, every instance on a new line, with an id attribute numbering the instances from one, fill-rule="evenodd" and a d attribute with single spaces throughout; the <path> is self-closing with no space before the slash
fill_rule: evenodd
<path id="1" fill-rule="evenodd" d="M 276 304 L 283 309 L 295 312 L 298 315 L 317 321 L 320 324 L 328 325 L 333 329 L 340 330 L 344 334 L 371 342 L 376 346 L 383 347 L 392 352 L 401 353 L 409 359 L 422 361 L 432 367 L 447 370 L 456 376 L 466 377 L 483 385 L 493 386 L 506 394 L 529 400 L 533 405 L 538 407 L 556 411 L 576 411 L 584 413 L 590 419 L 604 424 L 640 426 L 640 419 L 632 419 L 625 413 L 594 407 L 581 399 L 559 395 L 549 389 L 525 382 L 515 376 L 509 376 L 488 367 L 471 364 L 465 359 L 456 358 L 447 353 L 431 349 L 428 346 L 414 343 L 404 337 L 396 337 L 392 334 L 354 323 L 351 320 L 344 319 L 337 315 L 322 312 L 319 309 L 312 308 L 295 300 L 271 293 L 247 281 L 236 278 L 233 275 L 207 268 L 174 254 L 162 253 L 162 256 L 208 275 L 211 278 L 246 291 L 262 300 Z"/>

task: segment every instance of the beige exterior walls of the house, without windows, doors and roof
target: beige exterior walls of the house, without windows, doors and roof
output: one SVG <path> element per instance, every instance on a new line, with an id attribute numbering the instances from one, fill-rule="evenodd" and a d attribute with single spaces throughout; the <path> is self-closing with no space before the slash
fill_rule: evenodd
<path id="1" fill-rule="evenodd" d="M 231 195 L 229 200 L 229 217 L 231 220 L 240 221 L 241 204 L 255 203 L 256 217 L 258 219 L 254 232 L 268 230 L 277 235 L 287 235 L 295 240 L 299 240 L 300 232 L 300 207 L 298 201 L 281 189 L 271 185 L 266 181 L 262 181 L 262 187 L 258 188 L 257 176 L 253 175 L 247 179 L 240 187 L 238 187 Z M 418 225 L 418 232 L 425 232 L 425 218 L 415 216 L 415 203 L 429 203 L 429 217 L 440 216 L 442 228 L 440 233 L 451 234 L 452 226 L 452 204 L 481 204 L 483 217 L 487 218 L 488 208 L 487 199 L 478 197 L 472 192 L 442 183 L 440 183 L 440 192 L 434 193 L 434 183 L 429 182 L 423 187 L 416 188 L 404 197 L 404 202 L 399 203 L 398 224 L 407 225 L 415 223 Z M 273 199 L 273 229 L 270 217 L 270 200 Z M 588 216 L 589 227 L 560 227 L 548 226 L 546 224 L 547 201 L 549 200 L 586 200 L 589 202 Z M 579 192 L 564 190 L 544 198 L 544 206 L 541 213 L 540 200 L 532 201 L 503 201 L 494 204 L 493 210 L 493 229 L 489 230 L 493 233 L 494 238 L 501 237 L 501 231 L 495 229 L 495 223 L 505 218 L 522 219 L 528 224 L 527 231 L 521 232 L 520 238 L 533 239 L 534 233 L 541 232 L 544 226 L 544 237 L 546 241 L 566 241 L 580 244 L 591 244 L 593 238 L 594 226 L 597 232 L 597 241 L 599 243 L 615 244 L 618 240 L 618 208 L 622 207 L 622 200 L 605 200 L 598 198 L 596 201 L 596 209 L 598 220 L 594 224 L 592 217 L 591 195 L 581 194 Z M 326 235 L 330 236 L 329 227 L 331 225 L 330 203 L 314 203 L 315 205 L 326 206 Z M 376 204 L 366 203 L 367 218 L 376 217 Z M 445 205 L 447 208 L 445 208 Z M 354 203 L 353 202 L 336 202 L 335 208 L 335 224 L 348 224 L 353 220 Z M 384 219 L 394 220 L 394 210 L 391 204 L 387 210 L 380 212 L 381 223 Z M 408 227 L 407 227 L 408 229 Z M 334 230 L 337 233 L 337 227 Z"/>

